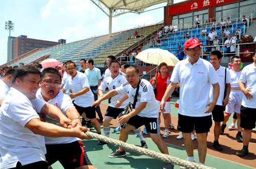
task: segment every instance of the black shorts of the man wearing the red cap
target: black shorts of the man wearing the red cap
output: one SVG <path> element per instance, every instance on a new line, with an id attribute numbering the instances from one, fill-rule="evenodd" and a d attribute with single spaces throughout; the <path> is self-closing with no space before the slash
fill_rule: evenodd
<path id="1" fill-rule="evenodd" d="M 191 133 L 195 130 L 196 133 L 207 133 L 210 131 L 212 120 L 210 116 L 190 117 L 178 114 L 178 129 L 184 133 Z"/>

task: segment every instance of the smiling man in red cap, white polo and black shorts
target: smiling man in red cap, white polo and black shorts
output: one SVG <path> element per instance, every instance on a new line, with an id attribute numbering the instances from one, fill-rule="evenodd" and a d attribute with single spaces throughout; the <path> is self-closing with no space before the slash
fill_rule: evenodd
<path id="1" fill-rule="evenodd" d="M 188 161 L 195 162 L 194 145 L 191 132 L 194 127 L 198 139 L 199 164 L 204 165 L 207 151 L 206 136 L 210 131 L 211 111 L 217 103 L 220 86 L 219 78 L 214 67 L 200 58 L 202 48 L 198 39 L 190 38 L 184 44 L 187 59 L 177 63 L 174 68 L 170 85 L 165 91 L 159 110 L 164 112 L 165 101 L 170 96 L 176 84 L 180 81 L 180 102 L 178 129 L 184 137 L 184 145 Z M 213 87 L 213 99 L 210 102 L 210 87 Z M 184 167 L 180 167 L 184 168 Z"/>

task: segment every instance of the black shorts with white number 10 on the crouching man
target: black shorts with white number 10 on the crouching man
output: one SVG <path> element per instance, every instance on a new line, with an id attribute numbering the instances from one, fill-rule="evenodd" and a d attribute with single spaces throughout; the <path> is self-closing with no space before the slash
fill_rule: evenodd
<path id="1" fill-rule="evenodd" d="M 160 124 L 158 118 L 145 118 L 138 115 L 132 117 L 128 123 L 135 128 L 145 125 L 146 131 L 151 134 L 160 134 Z"/>

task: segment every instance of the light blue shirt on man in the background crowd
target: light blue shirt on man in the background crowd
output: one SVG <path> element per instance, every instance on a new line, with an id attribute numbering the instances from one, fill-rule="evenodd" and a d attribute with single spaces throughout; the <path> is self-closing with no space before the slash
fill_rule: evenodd
<path id="1" fill-rule="evenodd" d="M 86 74 L 90 86 L 98 86 L 99 79 L 102 78 L 98 68 L 94 67 L 93 70 L 88 68 L 84 71 L 84 74 Z"/>

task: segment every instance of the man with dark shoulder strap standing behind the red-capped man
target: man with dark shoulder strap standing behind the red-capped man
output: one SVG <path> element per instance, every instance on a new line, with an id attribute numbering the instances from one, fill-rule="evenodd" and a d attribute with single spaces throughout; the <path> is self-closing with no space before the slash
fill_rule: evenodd
<path id="1" fill-rule="evenodd" d="M 220 66 L 222 60 L 222 53 L 220 50 L 210 52 L 210 63 L 214 66 L 216 73 L 219 77 L 220 95 L 214 109 L 211 111 L 212 118 L 214 119 L 214 147 L 218 151 L 222 151 L 219 144 L 219 137 L 221 132 L 221 122 L 224 121 L 224 109 L 228 103 L 230 93 L 230 73 L 227 68 Z M 210 90 L 210 99 L 212 100 L 212 88 Z"/>

